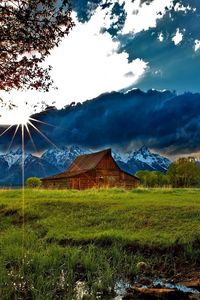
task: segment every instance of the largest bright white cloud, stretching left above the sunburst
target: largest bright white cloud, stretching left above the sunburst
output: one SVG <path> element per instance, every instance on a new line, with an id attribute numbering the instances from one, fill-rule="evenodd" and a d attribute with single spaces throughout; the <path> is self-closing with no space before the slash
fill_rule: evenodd
<path id="1" fill-rule="evenodd" d="M 92 99 L 137 83 L 147 63 L 139 58 L 129 62 L 126 52 L 118 53 L 119 43 L 109 33 L 101 32 L 102 27 L 107 28 L 112 22 L 107 15 L 108 11 L 99 8 L 89 22 L 80 23 L 74 14 L 76 26 L 46 59 L 46 64 L 53 66 L 52 78 L 58 90 L 49 93 L 14 91 L 0 96 L 19 104 L 23 114 L 22 103 L 26 100 L 30 111 L 36 103 L 40 110 L 44 100 L 49 104 L 55 101 L 56 107 L 61 108 L 72 101 Z M 126 76 L 127 73 L 132 76 Z"/>

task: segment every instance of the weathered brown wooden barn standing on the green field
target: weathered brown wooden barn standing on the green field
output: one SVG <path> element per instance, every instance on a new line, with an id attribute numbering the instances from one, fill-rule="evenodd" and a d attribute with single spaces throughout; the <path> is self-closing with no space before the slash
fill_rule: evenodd
<path id="1" fill-rule="evenodd" d="M 65 172 L 42 179 L 43 187 L 51 189 L 134 188 L 138 183 L 137 177 L 119 168 L 111 149 L 80 155 Z"/>

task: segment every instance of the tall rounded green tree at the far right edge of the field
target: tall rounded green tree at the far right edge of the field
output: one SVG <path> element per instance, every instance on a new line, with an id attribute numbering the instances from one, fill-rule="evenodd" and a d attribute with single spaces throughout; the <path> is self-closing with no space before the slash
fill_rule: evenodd
<path id="1" fill-rule="evenodd" d="M 200 182 L 200 167 L 192 157 L 178 159 L 171 164 L 167 174 L 173 187 L 191 187 Z"/>

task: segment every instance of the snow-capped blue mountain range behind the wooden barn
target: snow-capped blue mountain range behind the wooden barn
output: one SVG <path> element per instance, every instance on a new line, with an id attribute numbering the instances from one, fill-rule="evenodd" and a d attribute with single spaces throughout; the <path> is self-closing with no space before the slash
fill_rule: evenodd
<path id="1" fill-rule="evenodd" d="M 81 154 L 93 151 L 79 146 L 49 148 L 40 157 L 30 153 L 24 155 L 25 179 L 47 177 L 65 171 L 72 161 Z M 128 153 L 113 151 L 112 155 L 124 171 L 135 174 L 138 170 L 158 170 L 166 172 L 171 161 L 152 153 L 147 147 Z M 20 148 L 0 155 L 0 186 L 20 186 L 22 184 L 22 151 Z"/>

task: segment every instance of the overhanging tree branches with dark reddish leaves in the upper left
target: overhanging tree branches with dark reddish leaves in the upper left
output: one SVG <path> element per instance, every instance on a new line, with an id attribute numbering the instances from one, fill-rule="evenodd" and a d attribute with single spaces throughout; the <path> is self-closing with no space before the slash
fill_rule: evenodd
<path id="1" fill-rule="evenodd" d="M 0 89 L 48 91 L 51 67 L 42 62 L 73 25 L 68 0 L 2 0 Z"/>

